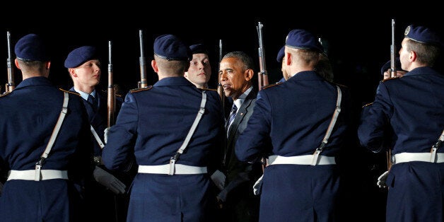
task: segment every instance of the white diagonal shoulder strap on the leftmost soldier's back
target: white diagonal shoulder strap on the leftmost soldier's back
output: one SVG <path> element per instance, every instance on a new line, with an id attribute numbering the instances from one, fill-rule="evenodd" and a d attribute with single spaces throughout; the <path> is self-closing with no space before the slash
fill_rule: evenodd
<path id="1" fill-rule="evenodd" d="M 64 92 L 64 100 L 62 112 L 60 112 L 59 119 L 57 119 L 57 124 L 52 130 L 51 138 L 49 138 L 49 142 L 43 151 L 42 156 L 40 156 L 40 160 L 35 163 L 35 181 L 40 180 L 40 169 L 42 168 L 43 163 L 45 163 L 46 158 L 48 157 L 49 151 L 51 151 L 52 146 L 54 145 L 54 141 L 57 138 L 57 134 L 59 134 L 60 127 L 62 126 L 63 119 L 65 118 L 66 112 L 68 112 L 68 101 L 69 94 Z"/>

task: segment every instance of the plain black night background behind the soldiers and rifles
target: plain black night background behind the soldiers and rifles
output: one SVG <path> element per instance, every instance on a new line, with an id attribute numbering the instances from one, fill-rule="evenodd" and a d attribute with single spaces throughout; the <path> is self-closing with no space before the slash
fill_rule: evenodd
<path id="1" fill-rule="evenodd" d="M 309 30 L 327 44 L 334 81 L 351 88 L 356 124 L 361 105 L 373 100 L 382 78 L 380 67 L 390 59 L 392 19 L 395 19 L 395 45 L 399 50 L 407 25 L 426 25 L 442 35 L 443 18 L 439 8 L 427 1 L 412 4 L 377 1 L 352 1 L 349 4 L 338 1 L 327 4 L 317 1 L 6 4 L 0 14 L 0 30 L 4 31 L 4 37 L 0 37 L 0 52 L 3 52 L 0 53 L 0 62 L 4 61 L 0 83 L 4 86 L 7 82 L 6 31 L 11 32 L 13 44 L 23 35 L 37 33 L 45 37 L 51 47 L 49 78 L 62 88 L 72 86 L 63 65 L 64 59 L 72 49 L 83 45 L 95 45 L 100 49 L 103 75 L 100 84 L 106 87 L 108 41 L 112 41 L 114 83 L 121 86 L 124 94 L 136 88 L 140 80 L 139 30 L 142 30 L 148 85 L 157 81 L 151 69 L 153 40 L 158 35 L 174 34 L 188 45 L 204 43 L 209 47 L 213 68 L 210 86 L 216 88 L 219 40 L 223 41 L 223 54 L 245 51 L 252 56 L 259 71 L 256 27 L 261 22 L 264 25 L 262 32 L 269 82 L 274 83 L 282 77 L 276 54 L 284 45 L 287 33 L 296 28 Z M 21 75 L 15 69 L 16 85 L 20 81 Z M 346 158 L 342 160 L 346 163 L 342 180 L 344 195 L 340 204 L 342 217 L 358 218 L 357 221 L 384 221 L 386 190 L 376 187 L 375 183 L 380 173 L 385 171 L 385 154 L 366 151 L 358 146 L 356 136 L 352 136 L 345 151 Z"/>

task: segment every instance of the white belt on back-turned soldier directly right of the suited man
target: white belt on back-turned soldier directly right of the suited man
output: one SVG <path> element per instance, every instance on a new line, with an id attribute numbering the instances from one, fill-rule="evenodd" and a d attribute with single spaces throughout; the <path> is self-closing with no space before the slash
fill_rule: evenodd
<path id="1" fill-rule="evenodd" d="M 269 156 L 268 164 L 296 164 L 296 165 L 312 165 L 314 156 L 313 155 L 302 155 L 302 156 Z M 316 165 L 330 165 L 336 164 L 334 156 L 322 156 L 317 158 Z"/>

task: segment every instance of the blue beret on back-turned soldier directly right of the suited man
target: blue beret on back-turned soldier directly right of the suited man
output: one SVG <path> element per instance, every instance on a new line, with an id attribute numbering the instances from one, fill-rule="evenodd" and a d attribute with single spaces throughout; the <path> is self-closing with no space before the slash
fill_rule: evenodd
<path id="1" fill-rule="evenodd" d="M 317 37 L 312 33 L 301 29 L 291 30 L 286 37 L 285 45 L 296 49 L 309 49 L 324 52 L 324 47 L 322 47 Z"/>

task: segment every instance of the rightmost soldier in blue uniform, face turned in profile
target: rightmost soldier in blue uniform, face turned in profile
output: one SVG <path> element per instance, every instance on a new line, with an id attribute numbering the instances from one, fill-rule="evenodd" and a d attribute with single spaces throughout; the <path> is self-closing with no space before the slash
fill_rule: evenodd
<path id="1" fill-rule="evenodd" d="M 409 25 L 399 49 L 407 73 L 381 81 L 361 113 L 362 146 L 378 153 L 394 139 L 392 167 L 378 178 L 380 187 L 388 187 L 387 222 L 444 220 L 444 152 L 434 146 L 444 136 L 444 75 L 434 69 L 442 49 L 433 30 Z M 393 136 L 385 136 L 387 130 Z"/>

